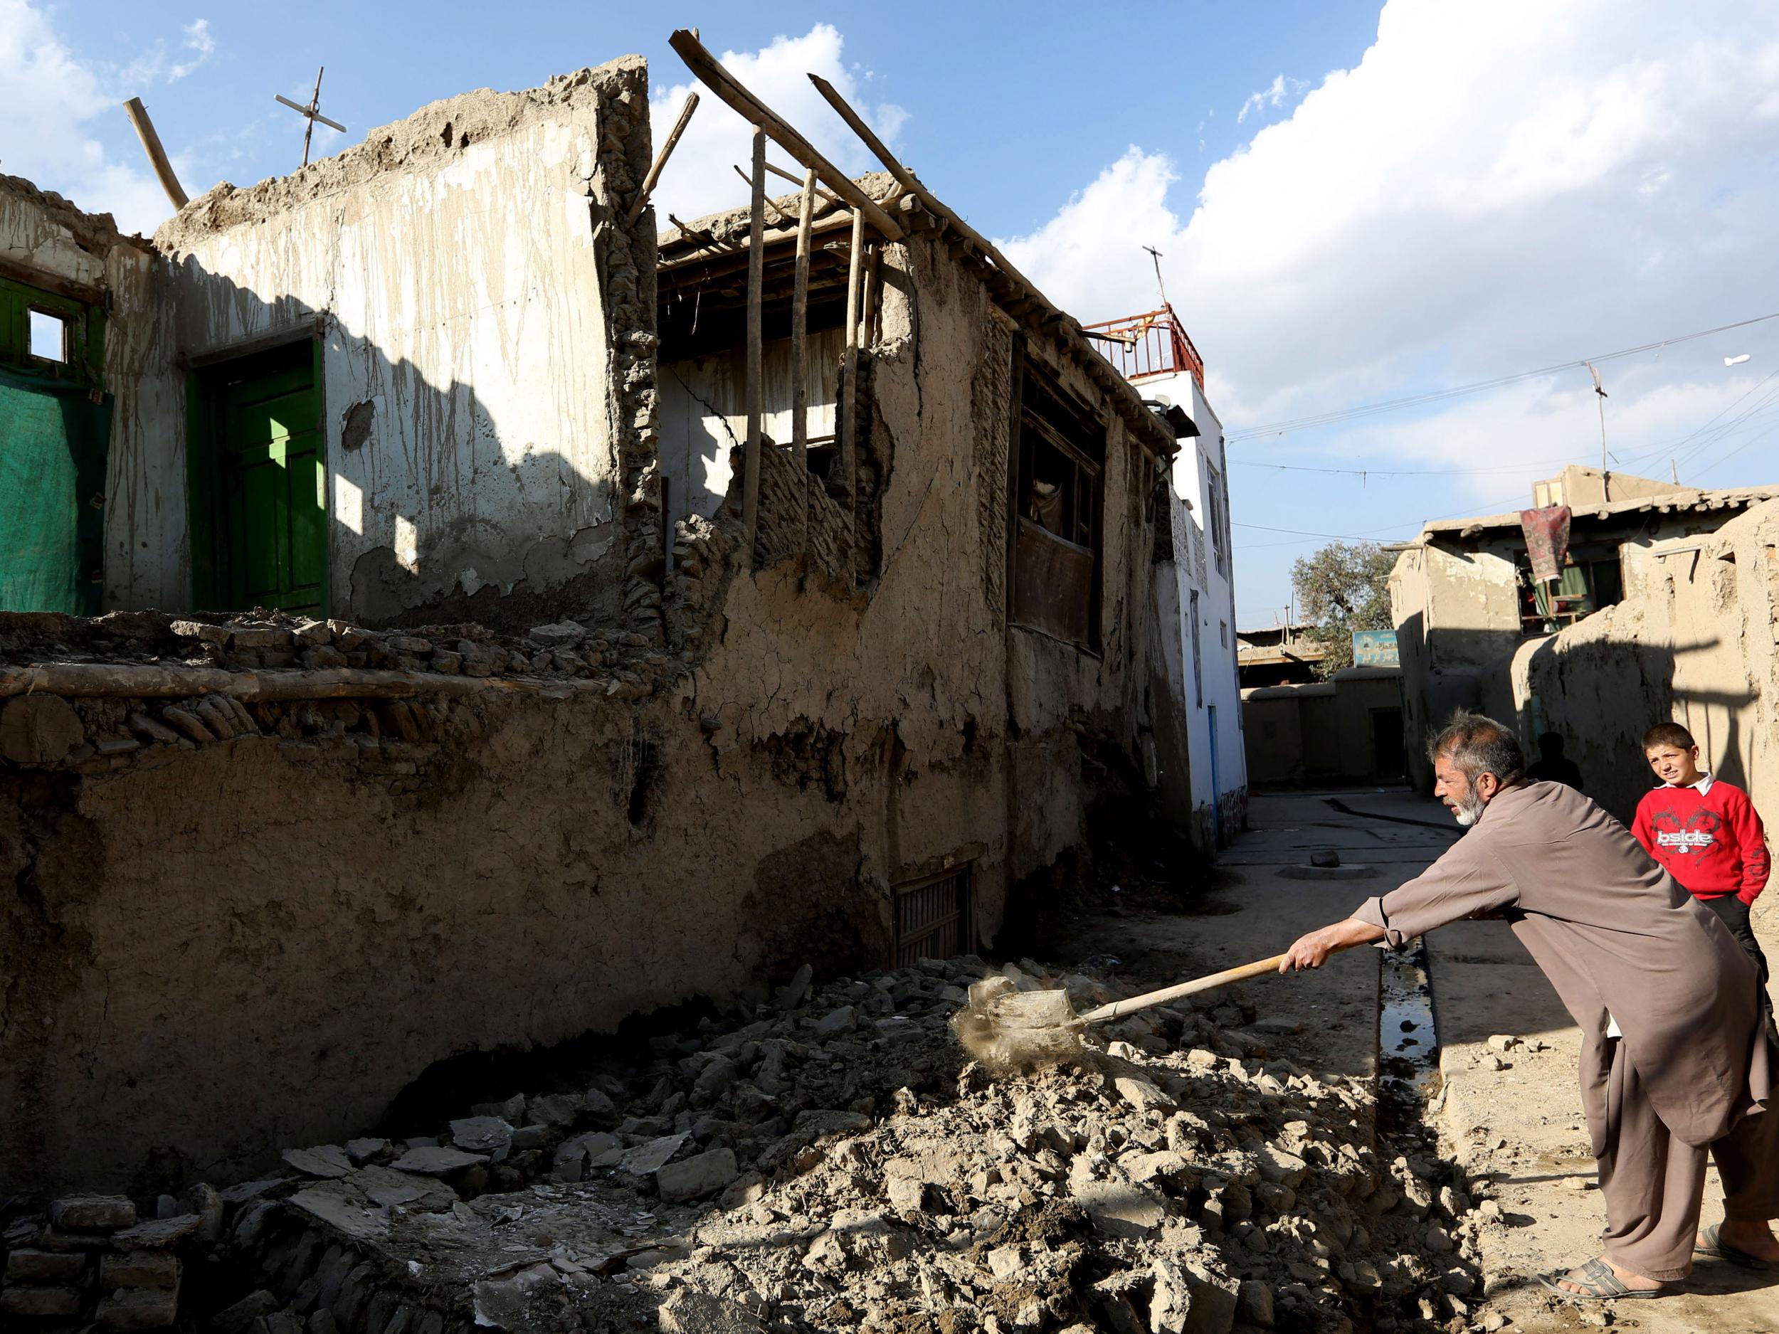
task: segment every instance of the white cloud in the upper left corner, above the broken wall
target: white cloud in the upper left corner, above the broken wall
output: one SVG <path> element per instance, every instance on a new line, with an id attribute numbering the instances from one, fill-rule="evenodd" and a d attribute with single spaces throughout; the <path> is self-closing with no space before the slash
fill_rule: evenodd
<path id="1" fill-rule="evenodd" d="M 215 50 L 208 20 L 185 28 L 181 50 L 190 55 L 169 64 L 157 43 L 125 69 L 80 60 L 48 12 L 27 0 L 0 0 L 0 171 L 89 212 L 112 213 L 125 231 L 153 231 L 173 212 L 160 185 L 146 167 L 110 158 L 89 126 L 101 116 L 121 117 L 125 98 L 203 64 Z M 174 153 L 174 169 L 187 167 Z"/>

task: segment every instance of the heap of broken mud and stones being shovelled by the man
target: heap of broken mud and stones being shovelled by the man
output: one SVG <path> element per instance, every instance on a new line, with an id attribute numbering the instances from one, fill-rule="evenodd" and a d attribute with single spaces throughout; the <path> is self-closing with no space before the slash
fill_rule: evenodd
<path id="1" fill-rule="evenodd" d="M 804 969 L 774 1003 L 658 1035 L 649 1060 L 568 1092 L 164 1197 L 208 1211 L 189 1245 L 217 1238 L 190 1256 L 205 1282 L 183 1318 L 219 1334 L 1473 1327 L 1462 1220 L 1487 1186 L 1375 1149 L 1364 1083 L 1272 1055 L 1279 1035 L 1228 998 L 991 1076 L 946 1030 L 987 971 L 922 960 L 811 991 Z M 1048 982 L 1028 960 L 1003 975 Z M 1124 994 L 1060 985 L 1078 1007 Z"/>

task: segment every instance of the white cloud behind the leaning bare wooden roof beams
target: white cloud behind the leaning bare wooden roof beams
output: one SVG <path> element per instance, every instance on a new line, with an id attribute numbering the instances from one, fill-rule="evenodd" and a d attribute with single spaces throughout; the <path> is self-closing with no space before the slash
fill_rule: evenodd
<path id="1" fill-rule="evenodd" d="M 724 52 L 720 62 L 754 96 L 815 144 L 829 162 L 847 174 L 859 176 L 881 167 L 870 149 L 859 142 L 859 137 L 815 91 L 808 75 L 822 75 L 833 84 L 834 91 L 865 117 L 890 148 L 895 148 L 897 135 L 907 123 L 907 112 L 891 101 L 872 103 L 870 84 L 873 80 L 870 71 L 847 68 L 841 60 L 841 48 L 840 30 L 829 23 L 817 23 L 802 37 L 774 37 L 772 44 L 760 52 Z M 656 66 L 656 75 L 664 69 L 664 66 Z M 735 167 L 740 165 L 744 171 L 749 167 L 753 130 L 701 84 L 674 84 L 653 92 L 649 121 L 655 144 L 660 146 L 665 139 L 680 116 L 685 94 L 694 87 L 699 91 L 697 112 L 694 112 L 690 128 L 687 128 L 655 187 L 655 217 L 664 229 L 669 212 L 690 222 L 703 213 L 747 203 L 747 187 L 735 174 Z M 774 144 L 767 144 L 767 160 L 802 176 L 802 169 Z M 795 189 L 777 176 L 767 183 L 769 194 L 790 194 Z"/>

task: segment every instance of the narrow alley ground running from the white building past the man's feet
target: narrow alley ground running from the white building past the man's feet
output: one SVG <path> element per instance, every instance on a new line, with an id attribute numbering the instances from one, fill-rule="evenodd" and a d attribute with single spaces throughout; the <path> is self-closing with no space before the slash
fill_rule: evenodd
<path id="1" fill-rule="evenodd" d="M 1201 950 L 1210 966 L 1235 962 L 1247 948 L 1283 948 L 1299 930 L 1416 875 L 1455 838 L 1445 808 L 1407 792 L 1256 797 L 1252 831 L 1222 861 L 1229 873 L 1219 904 L 1228 914 L 1179 920 L 1174 928 L 1192 923 L 1188 950 Z M 1304 868 L 1313 852 L 1329 848 L 1340 854 L 1340 868 Z M 1277 944 L 1265 943 L 1272 939 Z M 1427 959 L 1439 1074 L 1427 1122 L 1464 1177 L 1493 1183 L 1475 1227 L 1487 1284 L 1475 1313 L 1487 1323 L 1478 1327 L 1528 1334 L 1599 1327 L 1606 1311 L 1558 1304 L 1533 1279 L 1598 1254 L 1605 1222 L 1576 1089 L 1580 1032 L 1505 923 L 1445 927 L 1427 937 Z M 1364 1041 L 1375 1042 L 1370 955 L 1336 959 L 1318 976 L 1279 984 L 1295 994 L 1268 1000 L 1267 1014 L 1309 1023 L 1331 1064 L 1348 1064 Z M 1386 1042 L 1395 1037 L 1384 1033 Z M 1713 1170 L 1706 1224 L 1722 1217 L 1715 1192 Z M 1649 1334 L 1772 1334 L 1779 1330 L 1779 1284 L 1767 1274 L 1703 1261 L 1685 1291 L 1610 1311 L 1610 1323 L 1635 1322 Z"/>

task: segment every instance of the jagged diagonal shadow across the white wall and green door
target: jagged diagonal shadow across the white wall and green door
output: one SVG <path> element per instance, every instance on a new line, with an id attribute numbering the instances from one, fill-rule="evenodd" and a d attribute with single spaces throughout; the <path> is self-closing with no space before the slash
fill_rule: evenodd
<path id="1" fill-rule="evenodd" d="M 523 633 L 564 617 L 616 623 L 626 576 L 651 582 L 660 605 L 653 470 L 603 441 L 580 459 L 534 448 L 470 379 L 434 384 L 297 297 L 263 297 L 190 256 L 180 286 L 187 349 L 203 349 L 187 377 L 187 482 L 205 610 Z M 206 318 L 242 333 L 206 347 Z M 461 336 L 473 375 L 477 338 L 502 329 L 471 324 Z M 551 400 L 559 438 L 580 422 L 603 429 L 608 404 L 575 402 L 543 374 L 535 397 Z M 640 510 L 630 523 L 621 496 Z"/>

